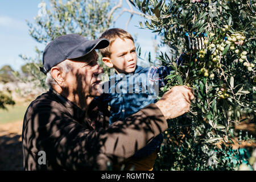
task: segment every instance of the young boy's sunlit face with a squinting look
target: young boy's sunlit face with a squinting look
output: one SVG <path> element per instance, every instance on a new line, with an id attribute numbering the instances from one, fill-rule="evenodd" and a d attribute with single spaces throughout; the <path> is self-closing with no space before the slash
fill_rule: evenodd
<path id="1" fill-rule="evenodd" d="M 110 61 L 117 73 L 132 73 L 135 71 L 137 54 L 133 40 L 115 39 L 110 46 L 110 52 Z"/>

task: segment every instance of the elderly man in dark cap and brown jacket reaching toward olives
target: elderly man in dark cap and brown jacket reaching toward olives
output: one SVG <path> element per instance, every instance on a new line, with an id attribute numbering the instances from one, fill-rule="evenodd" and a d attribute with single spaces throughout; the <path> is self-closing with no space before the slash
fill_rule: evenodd
<path id="1" fill-rule="evenodd" d="M 191 88 L 175 86 L 151 104 L 109 127 L 109 110 L 100 96 L 103 72 L 94 49 L 107 39 L 86 40 L 71 34 L 56 38 L 43 53 L 50 86 L 24 116 L 22 145 L 25 170 L 108 169 L 146 146 L 167 129 L 166 119 L 189 111 Z"/>

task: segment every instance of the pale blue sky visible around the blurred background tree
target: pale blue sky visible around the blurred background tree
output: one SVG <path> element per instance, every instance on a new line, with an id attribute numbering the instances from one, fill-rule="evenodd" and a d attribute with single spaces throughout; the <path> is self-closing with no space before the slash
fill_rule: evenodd
<path id="1" fill-rule="evenodd" d="M 28 34 L 28 27 L 26 19 L 30 22 L 34 22 L 34 16 L 38 14 L 38 4 L 40 0 L 1 0 L 0 1 L 0 68 L 3 65 L 9 64 L 15 70 L 18 70 L 24 61 L 20 59 L 19 54 L 26 55 L 28 57 L 35 56 L 35 46 L 44 48 L 44 46 L 37 43 Z M 47 2 L 47 1 L 45 1 Z M 118 1 L 116 1 L 118 2 Z M 127 4 L 123 0 L 123 5 Z M 124 13 L 117 20 L 115 27 L 126 27 L 128 13 Z M 154 34 L 149 30 L 142 30 L 136 26 L 139 25 L 139 20 L 142 18 L 135 15 L 131 20 L 127 29 L 131 35 L 137 34 L 138 43 L 141 45 L 142 53 L 145 51 L 153 51 L 152 39 Z"/>

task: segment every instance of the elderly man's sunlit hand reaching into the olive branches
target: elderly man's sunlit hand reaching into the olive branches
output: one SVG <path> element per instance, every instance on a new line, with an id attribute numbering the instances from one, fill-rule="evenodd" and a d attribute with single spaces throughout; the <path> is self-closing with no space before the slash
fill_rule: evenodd
<path id="1" fill-rule="evenodd" d="M 156 102 L 156 106 L 159 107 L 166 119 L 172 119 L 187 113 L 191 105 L 190 101 L 194 98 L 190 87 L 174 86 Z"/>

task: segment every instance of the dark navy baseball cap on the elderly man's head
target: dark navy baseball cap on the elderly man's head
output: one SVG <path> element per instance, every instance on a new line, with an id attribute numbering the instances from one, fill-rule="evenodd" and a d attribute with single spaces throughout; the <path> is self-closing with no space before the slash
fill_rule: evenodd
<path id="1" fill-rule="evenodd" d="M 82 57 L 94 49 L 103 49 L 109 46 L 108 39 L 87 40 L 79 34 L 59 36 L 50 42 L 43 52 L 43 68 L 45 75 L 55 65 L 66 59 Z"/>

